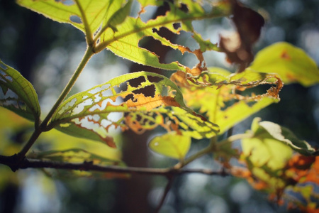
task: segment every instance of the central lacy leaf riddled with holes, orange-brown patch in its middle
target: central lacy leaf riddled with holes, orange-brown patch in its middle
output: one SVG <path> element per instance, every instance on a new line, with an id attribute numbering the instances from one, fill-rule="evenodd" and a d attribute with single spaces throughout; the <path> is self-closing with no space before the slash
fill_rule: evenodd
<path id="1" fill-rule="evenodd" d="M 142 133 L 162 126 L 198 139 L 218 132 L 218 126 L 186 107 L 176 84 L 152 72 L 122 75 L 74 94 L 58 107 L 49 126 L 112 147 L 116 144 L 108 132 L 114 129 Z"/>

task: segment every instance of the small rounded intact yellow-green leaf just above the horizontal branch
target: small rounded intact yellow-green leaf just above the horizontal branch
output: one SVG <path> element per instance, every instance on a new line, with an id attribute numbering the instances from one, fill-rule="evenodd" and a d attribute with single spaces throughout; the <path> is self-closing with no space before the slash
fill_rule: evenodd
<path id="1" fill-rule="evenodd" d="M 148 146 L 152 151 L 155 151 L 155 153 L 182 160 L 185 158 L 191 146 L 191 137 L 170 132 L 162 136 L 156 136 L 150 141 Z"/>

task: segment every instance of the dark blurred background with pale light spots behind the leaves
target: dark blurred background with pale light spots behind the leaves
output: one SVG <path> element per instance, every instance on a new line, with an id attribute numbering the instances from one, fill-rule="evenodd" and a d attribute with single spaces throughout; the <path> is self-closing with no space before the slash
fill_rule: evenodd
<path id="1" fill-rule="evenodd" d="M 256 53 L 272 43 L 287 41 L 303 48 L 319 64 L 318 0 L 242 2 L 259 11 L 267 21 L 255 46 Z M 136 2 L 133 7 L 138 10 Z M 147 8 L 143 18 L 159 15 L 165 10 L 165 7 Z M 218 42 L 220 33 L 233 30 L 228 18 L 196 21 L 194 27 L 202 33 L 203 38 L 209 38 L 213 42 Z M 186 33 L 182 33 L 178 39 L 167 31 L 162 30 L 160 33 L 177 43 L 191 42 L 190 35 Z M 160 55 L 165 62 L 181 60 L 189 66 L 196 64 L 196 58 L 191 55 L 179 55 L 174 50 L 163 48 L 155 40 L 143 39 L 141 45 Z M 0 58 L 34 84 L 43 114 L 57 99 L 81 60 L 85 48 L 84 35 L 76 28 L 50 21 L 21 8 L 14 1 L 0 0 Z M 205 57 L 209 66 L 235 70 L 235 67 L 225 62 L 225 55 L 221 53 L 206 53 Z M 91 59 L 72 93 L 137 70 L 162 72 L 132 64 L 105 50 Z M 299 84 L 287 85 L 282 89 L 280 96 L 282 101 L 279 104 L 273 104 L 255 116 L 289 127 L 299 138 L 318 146 L 319 85 L 309 88 Z M 10 144 L 0 141 L 1 154 L 4 153 L 4 148 L 10 147 L 14 150 L 23 143 L 23 130 L 9 131 L 7 127 L 11 123 L 2 119 L 1 138 L 10 138 Z M 250 127 L 251 121 L 252 118 L 238 124 L 234 132 L 245 131 Z M 174 160 L 163 158 L 147 149 L 147 141 L 154 134 L 136 136 L 127 132 L 118 136 L 123 141 L 121 148 L 125 163 L 144 167 L 172 165 Z M 206 142 L 194 141 L 192 152 L 205 146 Z M 35 148 L 41 149 L 43 146 L 45 143 L 39 142 Z M 121 157 L 119 153 L 114 155 Z M 211 156 L 205 156 L 189 165 L 190 168 L 217 166 Z M 142 175 L 134 175 L 130 180 L 59 177 L 52 179 L 50 174 L 45 174 L 41 170 L 21 170 L 12 173 L 9 168 L 0 165 L 0 211 L 151 212 L 157 206 L 167 182 L 162 177 Z M 174 180 L 161 212 L 286 212 L 286 209 L 268 202 L 266 194 L 253 190 L 245 180 L 193 174 L 179 176 Z"/>

